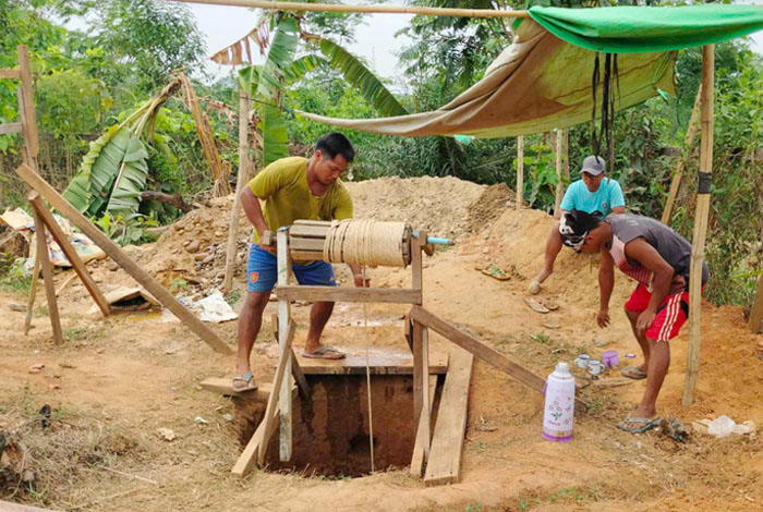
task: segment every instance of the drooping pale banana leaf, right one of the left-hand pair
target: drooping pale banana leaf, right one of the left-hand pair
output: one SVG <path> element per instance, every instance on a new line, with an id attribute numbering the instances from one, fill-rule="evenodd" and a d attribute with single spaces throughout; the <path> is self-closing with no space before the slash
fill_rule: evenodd
<path id="1" fill-rule="evenodd" d="M 122 166 L 114 182 L 106 210 L 129 215 L 141 206 L 141 193 L 148 178 L 148 151 L 136 135 L 130 137 Z"/>

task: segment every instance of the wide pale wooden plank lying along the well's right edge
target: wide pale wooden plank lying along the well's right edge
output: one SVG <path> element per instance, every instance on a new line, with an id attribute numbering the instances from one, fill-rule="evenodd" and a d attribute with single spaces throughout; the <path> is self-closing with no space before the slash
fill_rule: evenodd
<path id="1" fill-rule="evenodd" d="M 426 463 L 424 484 L 455 484 L 461 474 L 461 453 L 469 417 L 469 385 L 474 356 L 462 350 L 451 353 L 452 363 L 445 377 L 437 412 L 437 425 Z"/>

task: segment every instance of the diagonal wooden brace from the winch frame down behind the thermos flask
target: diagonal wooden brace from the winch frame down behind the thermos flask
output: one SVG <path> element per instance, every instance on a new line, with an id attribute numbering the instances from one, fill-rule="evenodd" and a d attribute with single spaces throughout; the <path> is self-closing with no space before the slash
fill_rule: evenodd
<path id="1" fill-rule="evenodd" d="M 451 326 L 441 318 L 433 315 L 423 307 L 413 306 L 411 308 L 411 317 L 414 320 L 424 324 L 426 327 L 434 330 L 444 338 L 447 338 L 451 342 L 456 343 L 461 349 L 471 352 L 485 363 L 495 366 L 499 370 L 504 371 L 506 375 L 513 377 L 514 379 L 519 380 L 520 382 L 530 387 L 531 389 L 534 389 L 535 391 L 543 392 L 543 386 L 546 382 L 543 379 L 543 377 L 525 368 L 519 363 L 514 363 L 505 355 L 496 352 L 495 350 L 480 342 L 477 339 L 472 338 L 462 330 L 457 329 L 456 327 Z M 585 405 L 585 402 L 583 402 L 579 398 L 576 398 L 574 401 L 576 411 L 586 411 L 588 406 Z"/>

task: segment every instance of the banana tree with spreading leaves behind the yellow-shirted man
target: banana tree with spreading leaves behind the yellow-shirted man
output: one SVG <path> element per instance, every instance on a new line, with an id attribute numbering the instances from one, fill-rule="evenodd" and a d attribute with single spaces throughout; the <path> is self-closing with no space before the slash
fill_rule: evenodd
<path id="1" fill-rule="evenodd" d="M 266 166 L 289 156 L 289 137 L 283 118 L 287 86 L 319 66 L 341 73 L 348 84 L 358 89 L 380 114 L 408 113 L 356 57 L 330 39 L 303 31 L 300 26 L 302 20 L 296 14 L 284 12 L 267 14 L 249 35 L 213 56 L 213 60 L 220 64 L 241 65 L 245 62 L 245 54 L 251 63 L 252 41 L 266 56 L 262 65 L 250 64 L 239 71 L 241 87 L 249 90 L 255 101 L 263 135 L 263 162 Z M 295 58 L 298 51 L 305 54 Z"/>

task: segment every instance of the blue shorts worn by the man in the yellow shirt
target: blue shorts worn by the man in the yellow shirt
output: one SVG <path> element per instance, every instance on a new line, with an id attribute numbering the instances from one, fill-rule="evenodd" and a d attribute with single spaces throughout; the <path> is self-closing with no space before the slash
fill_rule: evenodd
<path id="1" fill-rule="evenodd" d="M 296 282 L 314 287 L 336 287 L 334 268 L 326 261 L 313 261 L 310 265 L 292 265 Z M 252 244 L 246 263 L 246 291 L 269 292 L 278 281 L 278 259 L 275 254 Z"/>

